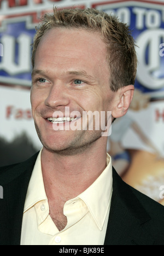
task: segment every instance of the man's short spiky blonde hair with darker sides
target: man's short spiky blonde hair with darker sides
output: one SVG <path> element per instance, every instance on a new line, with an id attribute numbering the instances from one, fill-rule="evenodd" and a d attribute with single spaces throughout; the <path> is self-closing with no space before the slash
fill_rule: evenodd
<path id="1" fill-rule="evenodd" d="M 45 14 L 37 27 L 32 48 L 32 66 L 40 39 L 45 32 L 54 27 L 82 28 L 101 33 L 107 45 L 107 60 L 110 69 L 110 88 L 119 88 L 134 84 L 137 71 L 137 55 L 134 39 L 129 27 L 113 15 L 95 9 L 54 8 L 54 13 Z"/>

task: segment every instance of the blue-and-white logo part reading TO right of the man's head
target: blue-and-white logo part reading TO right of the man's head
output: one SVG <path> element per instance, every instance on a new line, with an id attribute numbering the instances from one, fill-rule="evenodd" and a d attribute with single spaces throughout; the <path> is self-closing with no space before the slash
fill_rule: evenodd
<path id="1" fill-rule="evenodd" d="M 139 60 L 136 88 L 143 92 L 164 92 L 164 5 L 120 1 L 92 7 L 112 13 L 130 26 Z"/>

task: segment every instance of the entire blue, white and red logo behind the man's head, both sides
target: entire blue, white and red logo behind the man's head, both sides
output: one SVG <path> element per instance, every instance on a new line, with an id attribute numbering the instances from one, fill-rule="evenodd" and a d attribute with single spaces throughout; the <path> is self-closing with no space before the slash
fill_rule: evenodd
<path id="1" fill-rule="evenodd" d="M 63 1 L 0 2 L 0 14 L 5 16 L 0 25 L 0 80 L 31 86 L 31 44 L 38 17 L 45 10 L 52 11 L 55 2 L 62 6 Z M 72 2 L 75 4 L 74 0 L 67 2 L 69 7 Z M 85 8 L 85 4 L 78 7 Z M 116 3 L 95 3 L 92 7 L 115 14 L 133 30 L 139 60 L 136 88 L 143 92 L 164 92 L 164 4 L 117 0 Z"/>

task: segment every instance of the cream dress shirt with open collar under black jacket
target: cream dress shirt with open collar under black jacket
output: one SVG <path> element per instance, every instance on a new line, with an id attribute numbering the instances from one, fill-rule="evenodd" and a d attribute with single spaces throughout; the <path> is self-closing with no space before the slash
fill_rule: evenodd
<path id="1" fill-rule="evenodd" d="M 65 203 L 67 225 L 58 231 L 49 215 L 40 151 L 28 185 L 22 220 L 21 245 L 103 245 L 113 191 L 112 160 L 96 181 Z"/>

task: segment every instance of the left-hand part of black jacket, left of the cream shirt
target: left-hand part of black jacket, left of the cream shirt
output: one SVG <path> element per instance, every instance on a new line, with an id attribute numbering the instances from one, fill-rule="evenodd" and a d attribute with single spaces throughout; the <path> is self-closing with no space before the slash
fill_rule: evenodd
<path id="1" fill-rule="evenodd" d="M 37 155 L 1 172 L 0 245 L 20 245 L 26 193 Z"/>

